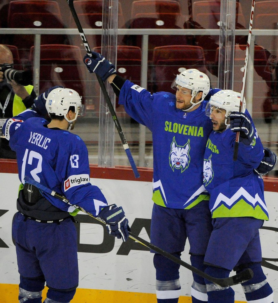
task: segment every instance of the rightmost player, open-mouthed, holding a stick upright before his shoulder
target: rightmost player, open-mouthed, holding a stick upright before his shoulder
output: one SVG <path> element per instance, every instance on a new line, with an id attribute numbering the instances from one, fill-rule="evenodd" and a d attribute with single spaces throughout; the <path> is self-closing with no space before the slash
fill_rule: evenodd
<path id="1" fill-rule="evenodd" d="M 211 96 L 206 107 L 213 132 L 204 155 L 204 186 L 210 194 L 213 231 L 204 258 L 208 265 L 205 272 L 226 278 L 233 269 L 238 273 L 251 268 L 253 278 L 242 283 L 247 302 L 271 303 L 273 291 L 260 265 L 259 236 L 268 212 L 263 180 L 253 171 L 263 157 L 263 145 L 245 109 L 245 100 L 242 112 L 239 108 L 240 93 L 231 90 Z M 235 132 L 239 132 L 237 161 L 233 161 Z M 231 287 L 208 280 L 206 285 L 209 303 L 234 303 Z"/>

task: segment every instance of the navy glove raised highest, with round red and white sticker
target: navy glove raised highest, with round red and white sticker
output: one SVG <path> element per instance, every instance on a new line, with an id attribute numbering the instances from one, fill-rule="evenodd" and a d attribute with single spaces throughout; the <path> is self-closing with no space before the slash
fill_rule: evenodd
<path id="1" fill-rule="evenodd" d="M 103 55 L 92 52 L 92 57 L 85 55 L 83 61 L 86 64 L 90 73 L 96 73 L 102 81 L 105 81 L 109 76 L 116 74 L 115 65 L 105 59 Z"/>

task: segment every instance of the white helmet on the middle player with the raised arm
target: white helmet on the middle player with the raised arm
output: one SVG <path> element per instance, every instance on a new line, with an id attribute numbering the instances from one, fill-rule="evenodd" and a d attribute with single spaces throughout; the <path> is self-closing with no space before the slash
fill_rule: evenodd
<path id="1" fill-rule="evenodd" d="M 177 90 L 177 85 L 192 90 L 192 98 L 190 100 L 192 106 L 185 111 L 188 111 L 195 105 L 201 103 L 210 91 L 210 81 L 208 76 L 195 68 L 186 69 L 185 71 L 177 75 L 174 81 L 172 82 L 171 88 Z M 203 92 L 201 100 L 197 103 L 193 103 L 192 100 L 200 91 Z"/>

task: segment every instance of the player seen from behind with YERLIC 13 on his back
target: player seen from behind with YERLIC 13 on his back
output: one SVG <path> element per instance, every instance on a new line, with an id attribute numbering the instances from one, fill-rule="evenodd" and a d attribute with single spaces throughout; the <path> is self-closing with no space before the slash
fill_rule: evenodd
<path id="1" fill-rule="evenodd" d="M 25 176 L 106 221 L 111 235 L 123 241 L 128 238 L 122 207 L 107 206 L 100 188 L 90 184 L 87 147 L 67 130 L 83 114 L 81 97 L 68 88 L 49 91 L 36 98 L 31 109 L 4 125 L 5 137 L 16 151 L 22 182 L 12 224 L 20 302 L 41 303 L 45 282 L 49 288 L 45 303 L 70 302 L 78 286 L 77 232 L 70 215 L 76 210 L 25 183 Z M 41 118 L 45 112 L 50 123 Z"/>

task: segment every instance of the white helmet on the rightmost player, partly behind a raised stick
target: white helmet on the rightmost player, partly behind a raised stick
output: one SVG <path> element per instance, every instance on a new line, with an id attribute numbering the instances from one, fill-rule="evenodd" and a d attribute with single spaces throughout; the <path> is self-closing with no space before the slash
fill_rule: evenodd
<path id="1" fill-rule="evenodd" d="M 239 112 L 240 109 L 240 93 L 234 92 L 231 89 L 224 89 L 211 96 L 206 106 L 206 110 L 205 110 L 206 116 L 209 117 L 211 115 L 213 106 L 214 109 L 223 108 L 226 110 L 225 125 L 227 126 L 227 128 L 229 128 L 230 124 L 227 123 L 229 115 L 231 114 L 231 112 Z M 241 112 L 244 113 L 245 109 L 246 109 L 246 102 L 245 102 L 245 98 L 243 98 Z"/>

